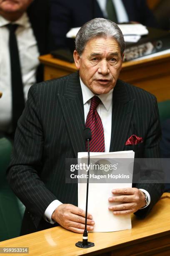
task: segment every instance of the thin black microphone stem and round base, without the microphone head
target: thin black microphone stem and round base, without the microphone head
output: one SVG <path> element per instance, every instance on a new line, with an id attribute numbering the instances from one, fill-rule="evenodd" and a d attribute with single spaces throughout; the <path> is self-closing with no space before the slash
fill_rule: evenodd
<path id="1" fill-rule="evenodd" d="M 89 138 L 87 138 L 88 147 L 88 166 L 90 164 L 90 148 L 89 148 Z M 90 169 L 90 168 L 89 168 Z M 87 231 L 87 206 L 88 206 L 88 187 L 89 187 L 89 169 L 87 172 L 87 190 L 86 190 L 86 208 L 85 208 L 85 230 L 82 236 L 82 241 L 78 241 L 75 246 L 79 248 L 89 248 L 95 246 L 94 243 L 88 242 L 88 231 Z"/>

